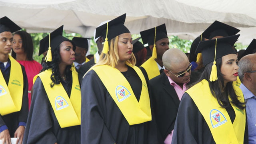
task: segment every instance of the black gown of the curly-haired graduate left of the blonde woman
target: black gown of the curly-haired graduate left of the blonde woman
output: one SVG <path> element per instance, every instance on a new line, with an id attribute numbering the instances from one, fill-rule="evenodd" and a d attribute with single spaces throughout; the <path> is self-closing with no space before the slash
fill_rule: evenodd
<path id="1" fill-rule="evenodd" d="M 71 86 L 62 85 L 70 97 Z M 23 144 L 80 144 L 80 126 L 60 128 L 40 77 L 33 88 Z"/>

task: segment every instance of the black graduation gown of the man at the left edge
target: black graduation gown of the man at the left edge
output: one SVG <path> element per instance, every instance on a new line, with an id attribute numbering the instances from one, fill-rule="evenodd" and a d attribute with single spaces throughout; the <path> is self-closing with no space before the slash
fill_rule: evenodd
<path id="1" fill-rule="evenodd" d="M 4 76 L 4 80 L 7 85 L 10 78 L 10 68 L 11 66 L 9 66 L 8 68 L 9 70 L 7 69 L 9 71 L 8 74 L 4 74 L 2 72 Z M 11 114 L 7 114 L 4 116 L 0 115 L 0 126 L 6 125 L 8 127 L 11 137 L 14 137 L 14 133 L 18 128 L 19 122 L 26 122 L 28 118 L 28 78 L 27 78 L 24 66 L 21 65 L 21 68 L 22 68 L 23 84 L 24 84 L 21 110 L 19 112 L 13 112 Z"/>

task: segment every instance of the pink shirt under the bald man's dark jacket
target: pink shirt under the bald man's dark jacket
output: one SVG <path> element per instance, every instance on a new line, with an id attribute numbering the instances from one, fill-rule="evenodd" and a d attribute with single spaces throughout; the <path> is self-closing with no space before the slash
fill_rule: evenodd
<path id="1" fill-rule="evenodd" d="M 174 82 L 169 76 L 168 76 L 168 80 L 170 82 L 170 84 L 174 87 L 174 90 L 176 91 L 178 98 L 181 100 L 182 95 L 184 94 L 184 92 L 187 90 L 186 85 L 188 84 L 188 82 L 186 84 L 183 84 L 183 89 L 180 88 L 180 86 L 178 84 L 176 84 L 176 82 Z M 170 134 L 168 134 L 168 136 L 165 138 L 164 140 L 164 144 L 171 144 L 172 143 L 172 134 L 173 134 L 173 130 Z"/>

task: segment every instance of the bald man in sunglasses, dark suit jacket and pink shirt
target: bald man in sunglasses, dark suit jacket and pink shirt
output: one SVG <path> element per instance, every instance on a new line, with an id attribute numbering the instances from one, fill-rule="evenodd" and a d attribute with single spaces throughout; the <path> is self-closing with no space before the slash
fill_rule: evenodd
<path id="1" fill-rule="evenodd" d="M 149 80 L 149 86 L 159 139 L 170 144 L 182 95 L 187 90 L 187 85 L 199 78 L 200 72 L 191 72 L 192 65 L 188 57 L 176 48 L 164 52 L 162 61 L 164 72 Z"/>

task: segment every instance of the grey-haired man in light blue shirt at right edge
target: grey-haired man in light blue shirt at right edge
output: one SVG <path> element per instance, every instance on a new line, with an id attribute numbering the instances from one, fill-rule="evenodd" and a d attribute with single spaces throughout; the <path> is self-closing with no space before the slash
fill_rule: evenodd
<path id="1" fill-rule="evenodd" d="M 256 144 L 256 54 L 249 54 L 238 62 L 240 88 L 246 101 L 249 144 Z"/>

